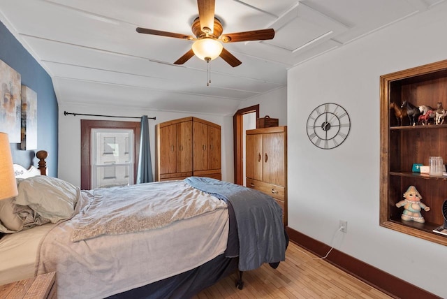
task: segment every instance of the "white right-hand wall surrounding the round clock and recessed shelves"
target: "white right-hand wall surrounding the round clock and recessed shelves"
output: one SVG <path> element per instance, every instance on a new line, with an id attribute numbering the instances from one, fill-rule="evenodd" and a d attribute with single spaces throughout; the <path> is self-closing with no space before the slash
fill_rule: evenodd
<path id="1" fill-rule="evenodd" d="M 288 225 L 443 298 L 447 248 L 379 226 L 379 76 L 447 59 L 446 16 L 442 3 L 295 66 L 287 90 Z M 309 113 L 327 102 L 351 117 L 348 138 L 330 150 L 306 133 Z M 348 232 L 335 235 L 340 219 Z"/>

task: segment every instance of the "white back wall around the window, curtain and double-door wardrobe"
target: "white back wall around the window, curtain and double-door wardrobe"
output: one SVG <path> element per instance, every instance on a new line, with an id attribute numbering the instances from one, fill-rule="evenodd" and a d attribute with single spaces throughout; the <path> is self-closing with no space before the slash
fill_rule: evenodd
<path id="1" fill-rule="evenodd" d="M 155 175 L 155 125 L 171 119 L 182 117 L 199 117 L 221 126 L 221 153 L 222 153 L 222 180 L 234 182 L 233 171 L 233 117 L 221 117 L 216 115 L 200 115 L 184 112 L 142 111 L 132 108 L 111 108 L 81 105 L 64 105 L 59 103 L 59 175 L 67 182 L 80 186 L 80 119 L 105 119 L 139 122 L 139 119 L 122 119 L 110 117 L 64 116 L 64 111 L 86 113 L 96 115 L 136 116 L 148 115 L 156 117 L 149 119 L 149 137 L 152 154 L 152 170 Z"/>

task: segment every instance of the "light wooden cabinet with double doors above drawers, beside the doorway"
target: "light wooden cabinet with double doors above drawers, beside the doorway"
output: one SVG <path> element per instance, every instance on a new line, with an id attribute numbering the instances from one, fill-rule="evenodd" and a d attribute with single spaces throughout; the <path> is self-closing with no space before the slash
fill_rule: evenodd
<path id="1" fill-rule="evenodd" d="M 287 225 L 287 126 L 247 130 L 247 187 L 272 196 Z"/>

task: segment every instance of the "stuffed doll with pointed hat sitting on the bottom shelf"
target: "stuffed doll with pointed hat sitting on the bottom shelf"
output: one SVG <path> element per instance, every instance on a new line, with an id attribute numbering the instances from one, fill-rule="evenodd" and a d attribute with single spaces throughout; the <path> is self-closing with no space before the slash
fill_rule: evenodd
<path id="1" fill-rule="evenodd" d="M 420 214 L 420 210 L 424 209 L 425 212 L 428 212 L 430 211 L 430 207 L 420 202 L 422 196 L 420 196 L 416 187 L 408 187 L 404 193 L 404 198 L 404 200 L 396 203 L 396 207 L 404 207 L 404 212 L 402 212 L 400 218 L 405 221 L 416 221 L 423 224 L 425 219 Z"/>

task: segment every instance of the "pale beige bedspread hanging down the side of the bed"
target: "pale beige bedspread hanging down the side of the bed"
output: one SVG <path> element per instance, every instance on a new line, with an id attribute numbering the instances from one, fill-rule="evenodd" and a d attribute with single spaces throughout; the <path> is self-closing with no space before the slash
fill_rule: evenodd
<path id="1" fill-rule="evenodd" d="M 154 183 L 154 186 L 160 189 L 152 194 L 159 201 L 173 195 L 185 200 L 198 196 L 200 202 L 221 205 L 221 200 L 182 181 Z M 78 212 L 87 212 L 90 200 L 91 194 L 83 191 Z M 184 214 L 184 210 L 180 210 L 179 214 Z M 177 275 L 223 254 L 228 240 L 226 208 L 152 230 L 98 235 L 71 242 L 73 231 L 82 223 L 78 213 L 73 219 L 55 226 L 41 244 L 36 274 L 57 271 L 58 298 L 104 298 Z"/>

